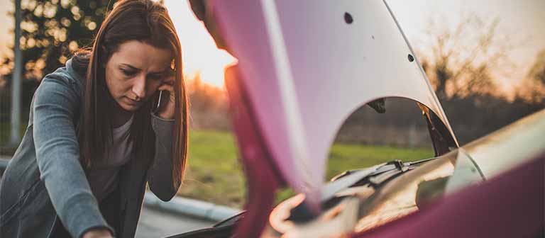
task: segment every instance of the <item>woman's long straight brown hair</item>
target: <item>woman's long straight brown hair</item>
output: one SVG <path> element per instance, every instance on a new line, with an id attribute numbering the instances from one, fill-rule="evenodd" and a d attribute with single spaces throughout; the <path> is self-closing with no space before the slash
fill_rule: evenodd
<path id="1" fill-rule="evenodd" d="M 175 188 L 182 183 L 187 159 L 187 92 L 182 73 L 182 50 L 174 24 L 167 9 L 150 0 L 124 0 L 116 3 L 101 24 L 92 50 L 75 55 L 74 63 L 86 65 L 82 116 L 79 118 L 78 140 L 82 164 L 90 168 L 101 157 L 111 136 L 111 118 L 107 113 L 112 101 L 105 82 L 104 65 L 119 45 L 139 40 L 172 52 L 175 69 L 175 132 L 172 152 L 172 181 Z M 75 65 L 77 67 L 77 65 Z M 150 165 L 155 155 L 155 134 L 151 128 L 150 111 L 153 101 L 144 103 L 134 115 L 131 125 L 136 159 Z"/>

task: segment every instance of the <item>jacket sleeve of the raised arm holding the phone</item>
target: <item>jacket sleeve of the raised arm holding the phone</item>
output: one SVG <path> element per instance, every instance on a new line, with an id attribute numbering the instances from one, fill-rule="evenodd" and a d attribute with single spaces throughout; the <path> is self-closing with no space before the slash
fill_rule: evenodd
<path id="1" fill-rule="evenodd" d="M 180 188 L 180 183 L 174 184 L 172 181 L 175 120 L 165 120 L 152 113 L 151 125 L 155 132 L 155 158 L 148 174 L 148 183 L 155 196 L 168 201 Z"/>

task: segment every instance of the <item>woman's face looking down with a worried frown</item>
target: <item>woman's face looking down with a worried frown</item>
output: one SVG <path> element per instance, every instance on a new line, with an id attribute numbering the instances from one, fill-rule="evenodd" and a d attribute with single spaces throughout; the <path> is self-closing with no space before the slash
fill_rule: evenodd
<path id="1" fill-rule="evenodd" d="M 138 40 L 119 45 L 106 62 L 106 86 L 125 111 L 136 111 L 148 101 L 170 72 L 172 54 Z"/>

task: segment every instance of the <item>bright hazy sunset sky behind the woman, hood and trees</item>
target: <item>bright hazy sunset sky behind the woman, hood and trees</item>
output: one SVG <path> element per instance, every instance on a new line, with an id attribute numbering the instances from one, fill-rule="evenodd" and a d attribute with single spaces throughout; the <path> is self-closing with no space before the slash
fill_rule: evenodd
<path id="1" fill-rule="evenodd" d="M 515 47 L 507 55 L 517 67 L 508 74 L 497 77 L 502 89 L 509 90 L 527 74 L 536 53 L 545 49 L 545 0 L 387 0 L 407 39 L 417 48 L 426 51 L 427 23 L 440 19 L 447 26 L 456 26 L 464 13 L 489 20 L 498 18 L 498 34 L 508 35 Z M 197 21 L 187 1 L 165 0 L 182 44 L 185 74 L 192 78 L 201 74 L 203 81 L 223 86 L 223 70 L 234 59 L 218 50 L 206 29 Z M 9 54 L 6 45 L 13 45 L 13 20 L 6 14 L 13 10 L 10 0 L 0 0 L 0 57 Z"/>

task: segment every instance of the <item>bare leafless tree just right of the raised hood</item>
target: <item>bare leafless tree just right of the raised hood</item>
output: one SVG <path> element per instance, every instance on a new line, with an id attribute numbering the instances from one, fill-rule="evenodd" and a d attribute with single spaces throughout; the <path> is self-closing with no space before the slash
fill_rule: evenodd
<path id="1" fill-rule="evenodd" d="M 430 21 L 426 35 L 431 36 L 422 67 L 440 99 L 472 95 L 497 95 L 492 71 L 510 64 L 511 46 L 497 34 L 499 21 L 484 21 L 474 14 L 463 16 L 455 28 L 442 21 Z M 441 22 L 441 23 L 438 23 Z"/>

